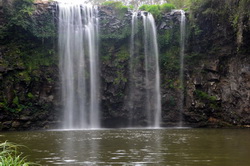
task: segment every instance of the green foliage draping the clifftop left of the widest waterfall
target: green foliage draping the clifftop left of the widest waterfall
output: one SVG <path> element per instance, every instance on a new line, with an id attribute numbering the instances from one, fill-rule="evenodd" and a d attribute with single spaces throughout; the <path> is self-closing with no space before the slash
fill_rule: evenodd
<path id="1" fill-rule="evenodd" d="M 35 12 L 33 2 L 14 0 L 4 5 L 5 24 L 0 28 L 1 42 L 26 37 L 44 40 L 56 36 L 52 13 L 49 10 Z"/>

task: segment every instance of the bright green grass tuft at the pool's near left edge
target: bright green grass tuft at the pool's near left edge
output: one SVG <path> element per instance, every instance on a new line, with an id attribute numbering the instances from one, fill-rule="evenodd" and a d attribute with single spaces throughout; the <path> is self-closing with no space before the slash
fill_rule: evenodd
<path id="1" fill-rule="evenodd" d="M 32 166 L 39 165 L 28 162 L 18 149 L 20 145 L 5 141 L 0 143 L 0 166 Z"/>

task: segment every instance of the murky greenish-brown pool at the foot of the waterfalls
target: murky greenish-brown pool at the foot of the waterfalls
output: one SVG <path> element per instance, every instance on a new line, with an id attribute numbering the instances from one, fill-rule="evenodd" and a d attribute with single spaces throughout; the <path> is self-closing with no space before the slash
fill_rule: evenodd
<path id="1" fill-rule="evenodd" d="M 41 165 L 249 166 L 250 130 L 116 129 L 0 133 Z"/>

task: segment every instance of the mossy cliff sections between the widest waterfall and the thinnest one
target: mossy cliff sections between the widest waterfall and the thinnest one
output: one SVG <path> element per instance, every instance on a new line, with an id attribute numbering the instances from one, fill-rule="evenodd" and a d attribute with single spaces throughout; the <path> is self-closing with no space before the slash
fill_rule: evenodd
<path id="1" fill-rule="evenodd" d="M 180 12 L 169 12 L 162 13 L 156 19 L 161 59 L 162 116 L 165 126 L 176 125 L 180 120 L 178 105 L 180 17 Z M 145 118 L 147 103 L 145 96 L 142 95 L 146 91 L 143 58 L 137 63 L 137 76 L 133 78 L 137 86 L 133 91 L 133 102 L 136 103 L 133 115 L 128 106 L 129 93 L 131 93 L 129 91 L 131 18 L 130 11 L 107 6 L 100 7 L 102 122 L 106 127 L 128 127 L 130 121 L 136 121 L 139 126 L 147 123 Z M 142 49 L 143 57 L 142 44 L 137 43 L 137 48 Z M 150 89 L 150 87 L 147 88 Z"/>

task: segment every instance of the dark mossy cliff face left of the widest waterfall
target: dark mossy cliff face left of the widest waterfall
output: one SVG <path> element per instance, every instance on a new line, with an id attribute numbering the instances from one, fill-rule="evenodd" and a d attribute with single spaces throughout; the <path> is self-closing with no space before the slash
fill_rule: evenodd
<path id="1" fill-rule="evenodd" d="M 31 3 L 23 12 L 19 2 L 4 1 L 0 19 L 0 130 L 48 128 L 58 120 L 51 10 Z"/>

